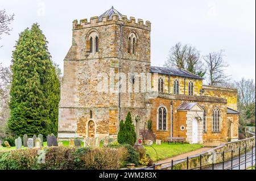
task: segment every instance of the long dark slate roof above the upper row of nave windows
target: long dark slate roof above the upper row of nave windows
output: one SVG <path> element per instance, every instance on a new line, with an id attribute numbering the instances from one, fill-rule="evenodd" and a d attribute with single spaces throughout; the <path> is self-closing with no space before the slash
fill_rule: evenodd
<path id="1" fill-rule="evenodd" d="M 175 75 L 180 77 L 188 77 L 188 78 L 195 78 L 195 79 L 204 79 L 202 77 L 199 77 L 196 74 L 193 74 L 187 70 L 184 69 L 175 69 L 175 68 L 162 68 L 159 66 L 151 66 L 150 67 L 151 73 L 159 73 L 159 74 L 166 74 L 166 75 Z"/>

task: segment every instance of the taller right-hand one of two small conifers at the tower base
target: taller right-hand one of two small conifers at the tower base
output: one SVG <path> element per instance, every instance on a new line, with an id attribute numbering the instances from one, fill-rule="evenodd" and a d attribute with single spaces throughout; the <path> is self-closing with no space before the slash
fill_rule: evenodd
<path id="1" fill-rule="evenodd" d="M 126 127 L 126 143 L 134 146 L 136 142 L 136 133 L 133 121 L 131 120 L 131 113 L 128 112 L 125 118 L 125 127 Z"/>

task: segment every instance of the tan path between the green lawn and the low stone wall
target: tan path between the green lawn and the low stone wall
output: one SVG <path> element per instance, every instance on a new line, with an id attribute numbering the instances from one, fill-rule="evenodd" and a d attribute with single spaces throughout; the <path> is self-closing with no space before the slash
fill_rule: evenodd
<path id="1" fill-rule="evenodd" d="M 178 160 L 178 159 L 183 159 L 183 158 L 187 158 L 187 157 L 192 157 L 193 155 L 197 155 L 197 154 L 200 154 L 200 153 L 203 153 L 204 151 L 207 151 L 207 150 L 210 150 L 210 149 L 213 149 L 213 148 L 209 148 L 209 147 L 203 147 L 203 148 L 199 148 L 197 150 L 193 150 L 193 151 L 190 151 L 188 153 L 183 153 L 183 154 L 179 154 L 179 155 L 176 155 L 174 157 L 171 157 L 171 158 L 167 158 L 167 159 L 163 159 L 161 161 L 158 161 L 158 163 L 166 163 L 166 162 L 169 162 L 169 163 L 166 163 L 166 164 L 170 164 L 170 162 L 172 161 L 172 159 L 175 161 L 175 160 Z M 163 164 L 164 165 L 164 164 Z"/>

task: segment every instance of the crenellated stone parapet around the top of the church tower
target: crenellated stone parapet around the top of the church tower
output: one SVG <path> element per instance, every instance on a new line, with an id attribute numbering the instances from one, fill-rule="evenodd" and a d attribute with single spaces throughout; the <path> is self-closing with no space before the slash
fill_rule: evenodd
<path id="1" fill-rule="evenodd" d="M 81 28 L 89 28 L 89 27 L 97 27 L 97 26 L 105 26 L 108 24 L 123 24 L 123 26 L 131 26 L 136 28 L 141 28 L 143 30 L 151 31 L 151 23 L 150 21 L 143 22 L 143 19 L 136 19 L 133 16 L 130 16 L 128 19 L 126 15 L 122 15 L 121 17 L 118 14 L 112 14 L 112 16 L 103 15 L 100 17 L 93 16 L 90 20 L 81 19 L 80 22 L 76 19 L 73 20 L 73 30 L 79 30 Z"/>

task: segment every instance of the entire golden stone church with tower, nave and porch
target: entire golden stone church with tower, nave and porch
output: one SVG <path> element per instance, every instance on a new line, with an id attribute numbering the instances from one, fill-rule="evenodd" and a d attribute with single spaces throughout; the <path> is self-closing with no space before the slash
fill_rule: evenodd
<path id="1" fill-rule="evenodd" d="M 113 7 L 73 21 L 61 82 L 60 140 L 117 138 L 127 112 L 140 129 L 151 120 L 157 139 L 238 140 L 237 90 L 203 85 L 203 78 L 184 69 L 151 66 L 150 31 L 149 21 Z"/>

